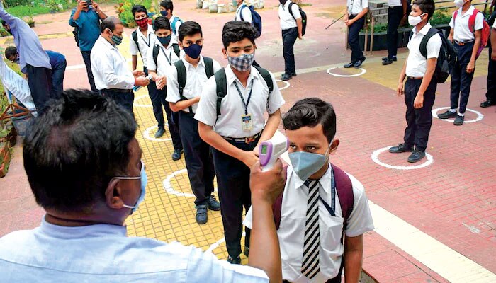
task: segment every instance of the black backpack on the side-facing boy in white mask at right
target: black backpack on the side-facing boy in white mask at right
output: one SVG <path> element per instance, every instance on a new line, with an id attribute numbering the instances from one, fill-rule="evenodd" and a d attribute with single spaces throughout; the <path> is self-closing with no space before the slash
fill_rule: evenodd
<path id="1" fill-rule="evenodd" d="M 420 54 L 427 58 L 427 42 L 433 36 L 439 34 L 443 44 L 441 45 L 441 49 L 439 50 L 439 56 L 437 57 L 436 70 L 434 71 L 434 78 L 437 83 L 444 83 L 446 79 L 448 79 L 451 74 L 451 70 L 453 69 L 456 63 L 456 50 L 453 47 L 453 44 L 449 42 L 449 40 L 444 36 L 441 30 L 437 30 L 436 28 L 430 28 L 427 32 L 427 35 L 422 38 L 420 42 Z M 410 34 L 410 39 L 412 38 L 413 31 Z"/>

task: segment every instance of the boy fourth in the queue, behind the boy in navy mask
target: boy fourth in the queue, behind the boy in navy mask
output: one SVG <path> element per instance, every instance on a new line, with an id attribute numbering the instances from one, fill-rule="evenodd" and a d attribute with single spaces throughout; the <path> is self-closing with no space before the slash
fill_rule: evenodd
<path id="1" fill-rule="evenodd" d="M 175 62 L 179 61 L 182 54 L 178 43 L 172 38 L 169 20 L 164 16 L 159 16 L 155 18 L 153 25 L 157 40 L 152 43 L 152 47 L 147 53 L 147 64 L 150 75 L 152 75 L 153 80 L 157 83 L 157 88 L 150 98 L 152 98 L 153 114 L 159 122 L 157 134 L 163 134 L 162 132 L 165 132 L 164 112 L 162 112 L 162 106 L 164 106 L 172 145 L 174 146 L 172 160 L 177 161 L 181 159 L 183 144 L 181 144 L 181 137 L 179 137 L 177 113 L 172 112 L 169 103 L 165 100 L 167 97 L 165 83 L 167 72 Z M 155 137 L 157 137 L 157 134 L 155 134 Z"/>

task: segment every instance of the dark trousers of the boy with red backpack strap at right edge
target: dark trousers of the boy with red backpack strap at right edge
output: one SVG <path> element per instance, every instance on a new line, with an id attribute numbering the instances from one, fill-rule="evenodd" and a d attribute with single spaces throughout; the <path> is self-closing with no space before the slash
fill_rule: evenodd
<path id="1" fill-rule="evenodd" d="M 472 57 L 473 43 L 465 45 L 453 44 L 458 54 L 456 64 L 451 70 L 451 109 L 458 108 L 458 99 L 460 100 L 460 109 L 458 112 L 465 113 L 470 96 L 470 86 L 472 85 L 473 73 L 467 73 L 467 65 Z"/>

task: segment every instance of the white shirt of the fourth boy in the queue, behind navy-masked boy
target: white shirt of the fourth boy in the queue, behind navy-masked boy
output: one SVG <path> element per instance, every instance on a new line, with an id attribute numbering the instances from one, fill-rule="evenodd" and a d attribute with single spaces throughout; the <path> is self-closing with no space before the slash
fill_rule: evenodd
<path id="1" fill-rule="evenodd" d="M 167 45 L 167 48 L 159 42 L 159 40 L 155 40 L 153 46 L 159 46 L 159 54 L 157 56 L 157 65 L 153 59 L 153 47 L 150 48 L 150 52 L 147 54 L 147 62 L 148 62 L 148 70 L 156 71 L 158 76 L 167 76 L 169 73 L 169 69 L 174 65 L 174 63 L 178 62 L 184 56 L 184 50 L 179 49 L 179 57 L 176 52 L 174 52 L 173 45 L 177 44 L 174 38 L 171 38 L 171 42 Z"/>

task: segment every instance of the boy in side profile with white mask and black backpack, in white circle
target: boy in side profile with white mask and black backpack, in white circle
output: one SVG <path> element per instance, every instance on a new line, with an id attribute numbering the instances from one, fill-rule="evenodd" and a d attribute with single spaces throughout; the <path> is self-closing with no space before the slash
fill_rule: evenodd
<path id="1" fill-rule="evenodd" d="M 425 157 L 429 132 L 432 126 L 432 105 L 436 98 L 437 81 L 434 78 L 437 58 L 442 40 L 439 34 L 432 35 L 427 42 L 427 58 L 420 53 L 420 42 L 432 28 L 429 18 L 434 13 L 433 0 L 415 0 L 408 23 L 413 25 L 412 37 L 408 42 L 408 57 L 400 74 L 398 96 L 405 95 L 407 105 L 407 128 L 404 143 L 393 146 L 389 152 L 398 154 L 412 152 L 408 162 L 418 162 Z M 407 78 L 405 86 L 403 81 Z M 415 147 L 414 147 L 415 146 Z"/>

